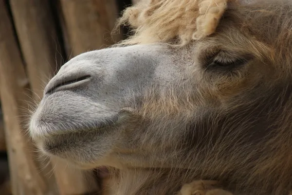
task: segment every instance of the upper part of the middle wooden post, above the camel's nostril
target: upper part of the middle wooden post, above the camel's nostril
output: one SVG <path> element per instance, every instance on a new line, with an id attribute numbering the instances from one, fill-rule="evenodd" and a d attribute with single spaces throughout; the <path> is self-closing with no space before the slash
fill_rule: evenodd
<path id="1" fill-rule="evenodd" d="M 10 6 L 33 96 L 39 101 L 62 63 L 50 0 L 10 0 Z"/>

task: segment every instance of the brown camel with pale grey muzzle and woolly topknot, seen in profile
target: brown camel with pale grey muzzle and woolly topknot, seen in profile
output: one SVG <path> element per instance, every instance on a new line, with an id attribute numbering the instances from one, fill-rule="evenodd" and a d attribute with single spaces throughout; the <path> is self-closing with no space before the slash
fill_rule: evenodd
<path id="1" fill-rule="evenodd" d="M 121 24 L 45 87 L 41 152 L 118 195 L 289 195 L 292 0 L 141 0 Z"/>

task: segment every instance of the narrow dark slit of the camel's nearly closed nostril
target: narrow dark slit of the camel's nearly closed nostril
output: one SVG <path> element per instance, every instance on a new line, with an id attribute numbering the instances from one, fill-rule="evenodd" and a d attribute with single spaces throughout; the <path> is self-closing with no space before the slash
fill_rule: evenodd
<path id="1" fill-rule="evenodd" d="M 57 89 L 66 89 L 66 88 L 72 88 L 74 86 L 79 86 L 82 83 L 85 83 L 89 81 L 90 75 L 80 76 L 76 78 L 69 77 L 67 79 L 59 80 L 58 82 L 55 82 L 55 84 L 49 88 L 45 94 L 50 94 L 56 91 Z"/>

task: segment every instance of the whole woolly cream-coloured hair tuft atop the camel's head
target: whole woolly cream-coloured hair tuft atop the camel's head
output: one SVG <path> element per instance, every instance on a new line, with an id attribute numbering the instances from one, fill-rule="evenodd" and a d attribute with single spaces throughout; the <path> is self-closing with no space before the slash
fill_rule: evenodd
<path id="1" fill-rule="evenodd" d="M 230 0 L 229 0 L 230 1 Z M 228 0 L 148 0 L 127 8 L 119 24 L 129 24 L 134 34 L 126 44 L 169 41 L 185 45 L 215 32 Z"/>

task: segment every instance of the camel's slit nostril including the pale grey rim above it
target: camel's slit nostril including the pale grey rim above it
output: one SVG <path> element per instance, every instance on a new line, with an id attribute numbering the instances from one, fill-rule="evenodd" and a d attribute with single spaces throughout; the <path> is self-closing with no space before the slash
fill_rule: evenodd
<path id="1" fill-rule="evenodd" d="M 87 85 L 90 80 L 91 75 L 82 72 L 57 74 L 46 86 L 44 94 L 49 95 L 60 90 L 76 89 Z"/>

